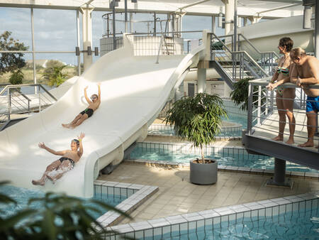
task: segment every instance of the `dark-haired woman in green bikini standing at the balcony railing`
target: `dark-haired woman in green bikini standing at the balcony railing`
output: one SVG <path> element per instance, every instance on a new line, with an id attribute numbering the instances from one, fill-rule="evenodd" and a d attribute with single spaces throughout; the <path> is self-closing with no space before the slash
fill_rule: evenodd
<path id="1" fill-rule="evenodd" d="M 293 48 L 293 40 L 291 38 L 281 38 L 279 40 L 279 52 L 284 56 L 279 59 L 276 72 L 269 82 L 267 88 L 272 90 L 276 88 L 276 104 L 279 114 L 279 133 L 273 138 L 274 141 L 284 141 L 284 130 L 286 126 L 286 116 L 289 121 L 289 139 L 287 144 L 293 144 L 293 134 L 295 133 L 296 120 L 293 116 L 293 99 L 295 99 L 295 88 L 278 87 L 284 82 L 290 82 L 289 72 L 293 67 L 293 62 L 290 58 L 290 52 Z"/>

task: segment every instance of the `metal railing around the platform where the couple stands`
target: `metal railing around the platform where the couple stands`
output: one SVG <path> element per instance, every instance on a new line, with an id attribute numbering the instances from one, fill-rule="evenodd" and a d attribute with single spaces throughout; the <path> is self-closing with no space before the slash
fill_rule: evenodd
<path id="1" fill-rule="evenodd" d="M 247 133 L 254 136 L 272 136 L 272 138 L 279 135 L 279 124 L 286 123 L 285 131 L 283 134 L 284 138 L 289 136 L 287 126 L 289 126 L 289 121 L 280 121 L 279 113 L 285 113 L 289 110 L 280 109 L 276 106 L 276 96 L 274 92 L 271 92 L 267 89 L 267 80 L 252 80 L 250 81 L 249 87 L 249 98 L 248 98 L 248 114 L 247 114 Z M 298 88 L 296 84 L 286 83 L 282 84 L 283 88 Z M 310 85 L 310 89 L 319 89 L 319 84 Z M 277 96 L 278 98 L 279 96 Z M 280 98 L 280 97 L 279 97 Z M 282 98 L 285 100 L 295 101 L 296 99 Z M 298 105 L 300 108 L 293 108 L 293 115 L 295 118 L 295 123 L 291 122 L 293 125 L 294 139 L 295 143 L 303 143 L 308 139 L 307 129 L 315 128 L 318 129 L 318 114 L 317 124 L 308 125 L 307 116 L 306 116 L 306 99 L 297 99 Z M 310 101 L 311 102 L 311 101 Z M 316 101 L 312 101 L 316 102 Z M 309 115 L 309 113 L 307 113 Z M 286 116 L 285 116 L 286 119 Z M 319 140 L 318 136 L 314 136 L 315 141 Z M 285 139 L 287 140 L 287 139 Z M 317 143 L 315 143 L 317 144 Z"/>

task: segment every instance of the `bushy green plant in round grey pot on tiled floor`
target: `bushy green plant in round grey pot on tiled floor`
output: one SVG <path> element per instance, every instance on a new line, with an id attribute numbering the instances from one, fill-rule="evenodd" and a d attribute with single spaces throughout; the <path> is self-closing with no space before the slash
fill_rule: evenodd
<path id="1" fill-rule="evenodd" d="M 223 100 L 217 94 L 198 93 L 174 102 L 164 121 L 174 125 L 177 136 L 186 138 L 200 148 L 201 158 L 190 162 L 190 181 L 206 185 L 217 182 L 217 161 L 206 159 L 204 147 L 213 143 L 220 132 L 223 117 Z"/>

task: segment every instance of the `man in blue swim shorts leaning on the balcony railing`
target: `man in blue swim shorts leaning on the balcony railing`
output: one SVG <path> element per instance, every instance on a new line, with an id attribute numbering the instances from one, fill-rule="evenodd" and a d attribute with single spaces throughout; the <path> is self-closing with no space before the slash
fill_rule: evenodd
<path id="1" fill-rule="evenodd" d="M 291 73 L 291 82 L 296 83 L 307 94 L 307 130 L 308 141 L 299 144 L 300 147 L 313 147 L 313 137 L 317 128 L 317 115 L 319 111 L 319 89 L 309 85 L 319 84 L 319 60 L 313 56 L 306 55 L 302 48 L 291 50 L 291 60 L 296 65 Z"/>

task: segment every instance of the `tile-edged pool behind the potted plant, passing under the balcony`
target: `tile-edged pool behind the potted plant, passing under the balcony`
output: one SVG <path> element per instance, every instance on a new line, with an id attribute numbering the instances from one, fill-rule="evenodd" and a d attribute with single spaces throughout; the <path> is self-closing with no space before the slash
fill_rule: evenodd
<path id="1" fill-rule="evenodd" d="M 200 158 L 198 149 L 187 144 L 174 143 L 138 143 L 130 153 L 130 159 L 162 160 L 167 163 L 189 163 L 190 160 Z M 247 153 L 245 148 L 206 148 L 206 158 L 218 160 L 218 165 L 235 166 L 255 169 L 274 169 L 274 158 L 269 156 Z M 286 171 L 313 172 L 318 170 L 307 168 L 303 165 L 286 162 Z"/>

